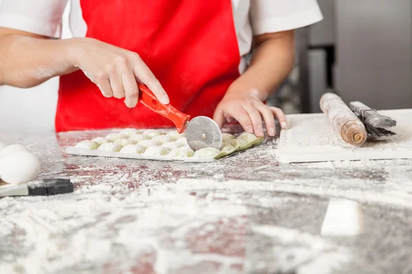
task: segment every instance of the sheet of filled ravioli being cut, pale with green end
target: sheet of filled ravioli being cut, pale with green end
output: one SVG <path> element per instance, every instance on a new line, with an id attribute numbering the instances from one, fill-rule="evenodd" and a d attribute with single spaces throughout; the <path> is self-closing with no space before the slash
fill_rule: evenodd
<path id="1" fill-rule="evenodd" d="M 164 129 L 123 129 L 92 140 L 82 140 L 66 153 L 73 155 L 134 158 L 164 161 L 214 162 L 238 151 L 260 145 L 263 138 L 242 133 L 238 136 L 222 134 L 221 149 L 207 147 L 193 151 L 187 145 L 185 134 Z"/>

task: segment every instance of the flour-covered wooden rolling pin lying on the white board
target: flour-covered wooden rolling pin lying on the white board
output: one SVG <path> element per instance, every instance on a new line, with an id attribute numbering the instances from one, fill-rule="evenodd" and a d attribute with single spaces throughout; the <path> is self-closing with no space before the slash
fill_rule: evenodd
<path id="1" fill-rule="evenodd" d="M 328 116 L 334 131 L 350 145 L 360 146 L 367 132 L 356 114 L 334 93 L 325 93 L 320 101 L 321 110 Z"/>

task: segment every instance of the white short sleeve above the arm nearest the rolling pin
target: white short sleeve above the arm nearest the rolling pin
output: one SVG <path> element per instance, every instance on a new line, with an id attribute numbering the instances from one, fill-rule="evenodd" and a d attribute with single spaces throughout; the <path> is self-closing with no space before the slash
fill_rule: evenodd
<path id="1" fill-rule="evenodd" d="M 251 0 L 253 35 L 305 27 L 323 19 L 316 0 Z"/>

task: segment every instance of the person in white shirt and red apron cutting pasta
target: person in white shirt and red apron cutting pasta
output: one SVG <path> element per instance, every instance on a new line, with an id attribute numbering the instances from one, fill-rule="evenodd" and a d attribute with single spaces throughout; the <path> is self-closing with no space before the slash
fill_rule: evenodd
<path id="1" fill-rule="evenodd" d="M 60 75 L 58 132 L 171 126 L 137 103 L 138 81 L 192 117 L 273 136 L 286 119 L 263 102 L 293 66 L 293 29 L 322 19 L 316 0 L 71 0 L 61 40 L 67 0 L 0 3 L 0 85 Z"/>

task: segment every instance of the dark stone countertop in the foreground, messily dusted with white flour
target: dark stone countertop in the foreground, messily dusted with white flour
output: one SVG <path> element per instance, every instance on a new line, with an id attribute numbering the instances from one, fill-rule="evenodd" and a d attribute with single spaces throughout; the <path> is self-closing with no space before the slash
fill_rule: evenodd
<path id="1" fill-rule="evenodd" d="M 412 160 L 279 164 L 278 138 L 209 163 L 63 152 L 102 134 L 0 134 L 75 188 L 0 199 L 0 273 L 412 273 Z"/>

